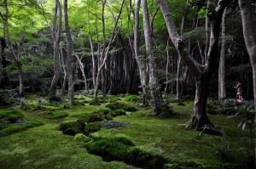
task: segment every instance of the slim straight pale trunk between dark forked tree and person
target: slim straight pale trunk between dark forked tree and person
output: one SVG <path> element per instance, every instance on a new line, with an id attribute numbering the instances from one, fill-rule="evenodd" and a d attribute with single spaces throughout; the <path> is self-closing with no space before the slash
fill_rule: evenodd
<path id="1" fill-rule="evenodd" d="M 227 8 L 224 9 L 222 18 L 222 42 L 220 49 L 220 59 L 218 65 L 218 100 L 226 98 L 226 76 L 225 76 L 225 17 L 227 14 Z"/>

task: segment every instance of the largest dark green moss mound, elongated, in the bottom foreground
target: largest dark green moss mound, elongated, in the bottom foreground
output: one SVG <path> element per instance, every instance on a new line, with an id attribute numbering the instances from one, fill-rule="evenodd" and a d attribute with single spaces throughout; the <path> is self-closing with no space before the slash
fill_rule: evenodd
<path id="1" fill-rule="evenodd" d="M 124 161 L 143 168 L 164 168 L 167 160 L 136 147 L 125 137 L 100 138 L 86 145 L 89 153 L 100 155 L 106 161 Z"/>

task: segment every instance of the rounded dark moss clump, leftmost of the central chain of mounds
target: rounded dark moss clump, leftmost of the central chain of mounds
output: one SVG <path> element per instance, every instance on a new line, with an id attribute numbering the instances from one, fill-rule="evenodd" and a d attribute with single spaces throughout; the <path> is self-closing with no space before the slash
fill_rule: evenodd
<path id="1" fill-rule="evenodd" d="M 64 121 L 60 125 L 60 130 L 63 134 L 72 136 L 84 132 L 83 126 L 78 121 Z"/>

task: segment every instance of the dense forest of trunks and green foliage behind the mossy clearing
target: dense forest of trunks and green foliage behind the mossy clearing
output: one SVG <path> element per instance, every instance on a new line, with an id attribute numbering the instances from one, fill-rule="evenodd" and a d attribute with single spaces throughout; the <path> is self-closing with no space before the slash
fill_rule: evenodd
<path id="1" fill-rule="evenodd" d="M 243 83 L 245 99 L 253 99 L 238 2 L 169 1 L 174 32 L 161 14 L 163 2 L 139 5 L 125 0 L 3 1 L 1 88 L 50 98 L 67 93 L 69 104 L 74 91 L 93 93 L 95 100 L 99 92 L 103 97 L 141 93 L 143 105 L 151 93 L 154 115 L 171 109 L 164 106 L 162 93 L 176 99 L 195 95 L 195 113 L 205 114 L 208 96 L 236 98 L 236 81 Z M 250 5 L 254 11 L 255 3 Z M 218 17 L 212 19 L 213 14 Z M 180 35 L 183 50 L 172 33 Z M 198 128 L 200 121 L 192 122 Z"/>

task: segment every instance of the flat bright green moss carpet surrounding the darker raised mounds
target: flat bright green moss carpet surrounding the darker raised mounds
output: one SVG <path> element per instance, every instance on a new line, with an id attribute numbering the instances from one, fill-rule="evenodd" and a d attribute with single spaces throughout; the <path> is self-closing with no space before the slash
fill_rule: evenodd
<path id="1" fill-rule="evenodd" d="M 119 97 L 119 102 L 134 105 Z M 26 103 L 37 104 L 36 96 L 27 96 Z M 91 114 L 104 107 L 90 105 L 91 98 L 76 96 L 77 103 L 73 107 L 63 109 L 62 104 L 42 104 L 44 109 L 21 109 L 20 104 L 0 109 L 1 112 L 18 110 L 24 121 L 33 121 L 39 125 L 25 131 L 10 132 L 0 137 L 0 168 L 67 168 L 67 169 L 122 169 L 137 168 L 123 161 L 104 161 L 101 156 L 91 155 L 84 143 L 73 136 L 65 135 L 59 130 L 63 121 L 73 121 L 84 114 Z M 154 153 L 164 155 L 169 164 L 166 168 L 249 168 L 252 165 L 253 147 L 255 145 L 255 128 L 253 135 L 249 127 L 242 131 L 237 127 L 241 121 L 227 118 L 229 115 L 208 114 L 210 121 L 218 126 L 224 136 L 201 134 L 184 127 L 189 121 L 193 108 L 193 100 L 170 103 L 179 115 L 163 118 L 149 115 L 151 109 L 137 108 L 137 111 L 113 117 L 114 121 L 127 122 L 122 128 L 103 128 L 94 134 L 102 137 L 125 136 L 137 146 Z M 45 109 L 51 110 L 45 111 Z M 53 118 L 52 112 L 63 117 Z M 1 132 L 0 128 L 0 132 Z M 2 133 L 2 132 L 1 132 Z M 252 140 L 253 138 L 253 145 Z"/>

